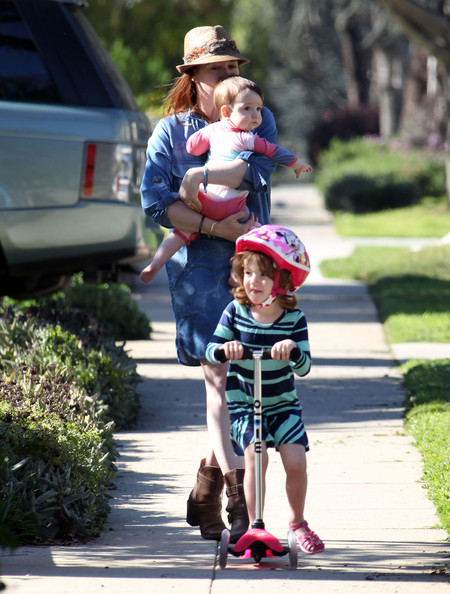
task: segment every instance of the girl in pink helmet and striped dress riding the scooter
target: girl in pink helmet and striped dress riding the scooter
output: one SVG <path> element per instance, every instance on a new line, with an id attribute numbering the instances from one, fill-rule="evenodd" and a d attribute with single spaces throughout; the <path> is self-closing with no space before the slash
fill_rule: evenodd
<path id="1" fill-rule="evenodd" d="M 275 447 L 286 471 L 289 526 L 304 553 L 320 553 L 325 546 L 303 515 L 309 445 L 294 386 L 294 373 L 304 376 L 311 368 L 306 320 L 293 294 L 309 274 L 308 254 L 289 229 L 264 225 L 238 238 L 232 266 L 239 287 L 233 290 L 235 299 L 225 309 L 206 356 L 217 363 L 217 350 L 222 349 L 231 361 L 226 398 L 233 447 L 245 457 L 250 525 L 255 519 L 253 363 L 242 356 L 244 347 L 270 347 L 272 360 L 262 361 L 263 474 L 268 465 L 267 447 Z M 300 354 L 291 361 L 295 347 Z"/>

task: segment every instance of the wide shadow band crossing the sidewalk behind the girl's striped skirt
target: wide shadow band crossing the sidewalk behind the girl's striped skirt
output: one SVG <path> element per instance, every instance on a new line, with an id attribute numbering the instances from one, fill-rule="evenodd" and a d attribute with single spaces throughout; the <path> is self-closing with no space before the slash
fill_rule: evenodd
<path id="1" fill-rule="evenodd" d="M 358 360 L 359 361 L 359 360 Z M 314 360 L 314 365 L 341 363 L 326 359 Z M 349 359 L 347 365 L 354 363 Z M 356 363 L 355 363 L 356 364 Z M 381 365 L 378 360 L 375 364 Z M 373 367 L 373 362 L 370 361 Z M 163 386 L 162 386 L 163 382 Z M 327 423 L 388 422 L 402 416 L 403 390 L 397 377 L 317 377 L 296 380 L 297 392 L 308 426 Z M 135 432 L 155 433 L 180 430 L 205 430 L 205 396 L 203 381 L 146 378 L 139 391 L 142 412 Z"/>

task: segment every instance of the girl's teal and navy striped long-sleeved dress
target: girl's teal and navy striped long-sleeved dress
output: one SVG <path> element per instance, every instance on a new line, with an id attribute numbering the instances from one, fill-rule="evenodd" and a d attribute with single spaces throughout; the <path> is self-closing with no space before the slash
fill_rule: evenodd
<path id="1" fill-rule="evenodd" d="M 304 376 L 311 369 L 308 327 L 301 310 L 286 310 L 275 322 L 260 324 L 254 320 L 249 307 L 241 305 L 236 300 L 232 301 L 223 312 L 207 346 L 206 358 L 212 363 L 218 363 L 215 357 L 216 350 L 231 340 L 238 340 L 244 347 L 264 348 L 287 338 L 293 340 L 300 349 L 297 361 L 261 362 L 262 435 L 268 447 L 301 443 L 309 450 L 302 420 L 302 407 L 294 385 L 294 374 Z M 252 360 L 230 361 L 226 398 L 233 447 L 237 455 L 242 455 L 254 440 Z"/>

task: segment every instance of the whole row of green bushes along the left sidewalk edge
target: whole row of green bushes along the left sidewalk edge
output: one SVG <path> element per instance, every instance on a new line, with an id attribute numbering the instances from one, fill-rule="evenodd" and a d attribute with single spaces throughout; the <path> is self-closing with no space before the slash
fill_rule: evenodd
<path id="1" fill-rule="evenodd" d="M 136 364 L 118 339 L 151 330 L 129 293 L 76 279 L 67 294 L 0 306 L 0 547 L 102 530 L 113 432 L 132 427 L 140 408 Z"/>

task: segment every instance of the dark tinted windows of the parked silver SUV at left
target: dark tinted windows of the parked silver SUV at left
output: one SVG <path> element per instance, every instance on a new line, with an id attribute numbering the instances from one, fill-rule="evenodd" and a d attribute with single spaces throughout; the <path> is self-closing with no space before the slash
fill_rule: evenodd
<path id="1" fill-rule="evenodd" d="M 83 10 L 0 1 L 0 100 L 139 110 Z"/>

